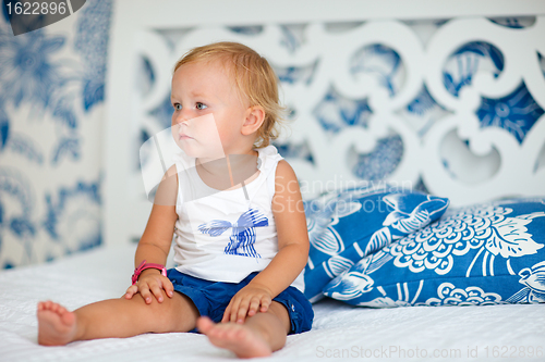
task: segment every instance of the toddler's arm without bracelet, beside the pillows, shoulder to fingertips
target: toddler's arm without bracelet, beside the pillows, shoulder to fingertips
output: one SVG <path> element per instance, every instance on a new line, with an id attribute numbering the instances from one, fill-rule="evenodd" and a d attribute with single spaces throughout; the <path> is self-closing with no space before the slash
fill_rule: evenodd
<path id="1" fill-rule="evenodd" d="M 308 259 L 308 234 L 299 183 L 286 161 L 276 171 L 272 214 L 278 234 L 278 253 L 247 286 L 231 299 L 221 322 L 243 323 L 246 315 L 266 312 L 282 290 L 288 288 L 305 267 Z"/>

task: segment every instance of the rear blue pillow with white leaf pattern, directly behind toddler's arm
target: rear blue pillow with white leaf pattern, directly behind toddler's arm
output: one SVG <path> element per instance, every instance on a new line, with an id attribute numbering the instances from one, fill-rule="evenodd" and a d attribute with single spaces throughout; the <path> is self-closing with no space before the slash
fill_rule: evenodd
<path id="1" fill-rule="evenodd" d="M 439 219 L 448 199 L 393 187 L 354 188 L 305 203 L 311 239 L 305 296 L 323 288 L 362 258 Z"/>

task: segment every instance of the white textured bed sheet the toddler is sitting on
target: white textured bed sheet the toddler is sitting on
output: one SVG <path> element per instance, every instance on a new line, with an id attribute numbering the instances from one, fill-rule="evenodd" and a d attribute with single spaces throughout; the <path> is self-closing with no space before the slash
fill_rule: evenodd
<path id="1" fill-rule="evenodd" d="M 51 299 L 76 309 L 121 296 L 129 286 L 134 250 L 134 246 L 99 248 L 51 264 L 0 272 L 0 361 L 233 359 L 197 334 L 147 334 L 65 347 L 37 345 L 35 311 L 39 300 Z M 289 336 L 286 347 L 268 360 L 545 360 L 543 304 L 365 309 L 324 300 L 314 311 L 313 329 Z M 531 347 L 540 348 L 541 357 L 528 357 Z M 434 358 L 434 353 L 438 355 Z"/>

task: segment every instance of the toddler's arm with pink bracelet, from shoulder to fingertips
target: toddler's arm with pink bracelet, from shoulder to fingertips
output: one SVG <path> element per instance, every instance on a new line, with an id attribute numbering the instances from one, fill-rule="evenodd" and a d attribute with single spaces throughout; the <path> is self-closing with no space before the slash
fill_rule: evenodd
<path id="1" fill-rule="evenodd" d="M 148 263 L 166 264 L 178 220 L 177 196 L 178 175 L 175 166 L 172 166 L 167 171 L 157 189 L 149 220 L 134 257 L 135 266 L 140 265 L 143 260 Z M 169 278 L 162 276 L 159 270 L 146 269 L 141 273 L 138 282 L 126 289 L 125 298 L 131 299 L 140 292 L 146 303 L 152 303 L 152 295 L 160 303 L 162 302 L 161 289 L 165 289 L 168 297 L 172 297 L 173 286 Z"/>

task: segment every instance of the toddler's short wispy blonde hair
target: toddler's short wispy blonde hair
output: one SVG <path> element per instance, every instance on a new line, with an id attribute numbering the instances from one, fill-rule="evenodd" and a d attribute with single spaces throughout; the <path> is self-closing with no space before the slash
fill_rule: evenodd
<path id="1" fill-rule="evenodd" d="M 279 123 L 286 111 L 279 102 L 275 71 L 255 50 L 239 42 L 220 41 L 193 48 L 175 63 L 174 72 L 183 64 L 213 60 L 223 61 L 231 71 L 239 95 L 247 98 L 250 107 L 264 109 L 265 120 L 257 130 L 254 147 L 268 146 L 271 139 L 278 138 Z"/>

